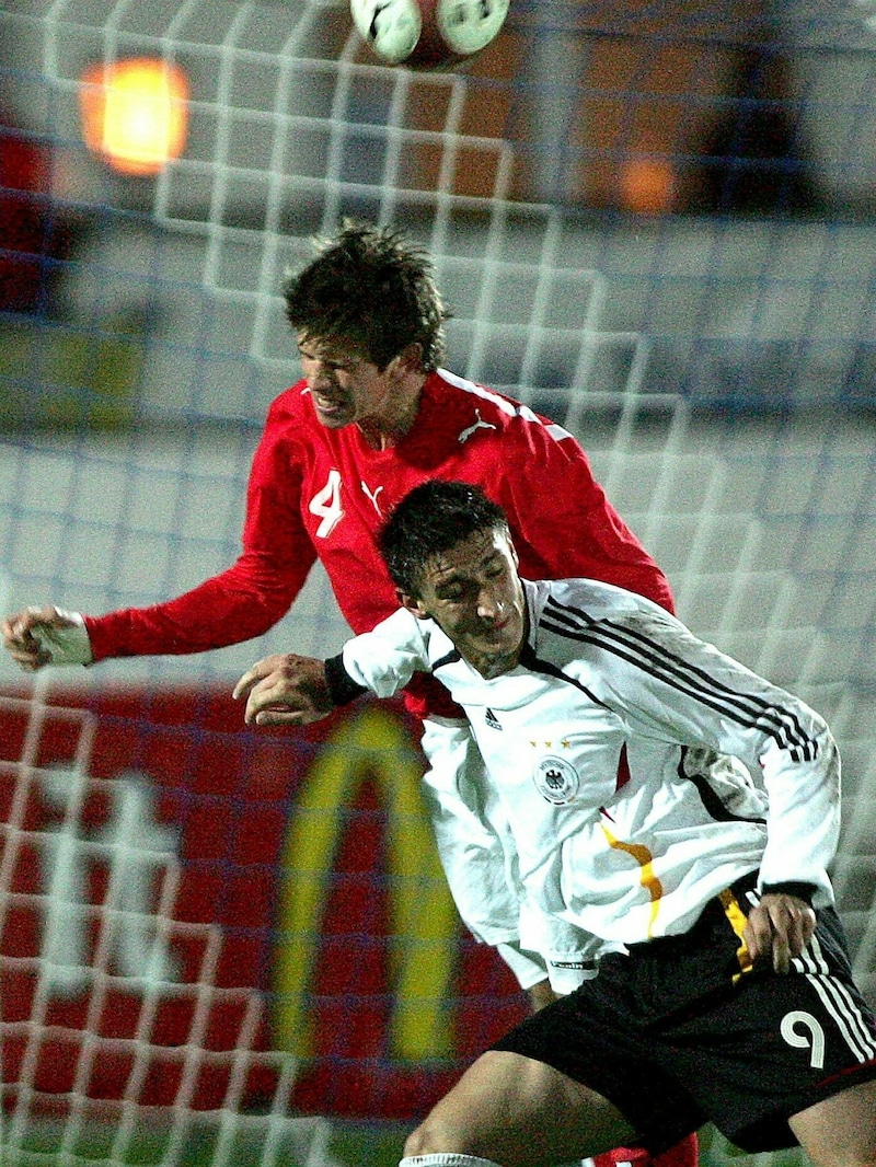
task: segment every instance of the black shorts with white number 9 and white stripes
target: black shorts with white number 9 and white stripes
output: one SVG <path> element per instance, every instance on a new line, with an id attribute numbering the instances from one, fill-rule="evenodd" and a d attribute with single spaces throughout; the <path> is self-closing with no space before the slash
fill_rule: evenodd
<path id="1" fill-rule="evenodd" d="M 794 1146 L 788 1117 L 876 1077 L 876 1020 L 833 909 L 818 913 L 790 973 L 751 965 L 749 887 L 710 901 L 683 936 L 605 957 L 597 977 L 493 1048 L 603 1095 L 652 1154 L 707 1121 L 749 1153 Z"/>

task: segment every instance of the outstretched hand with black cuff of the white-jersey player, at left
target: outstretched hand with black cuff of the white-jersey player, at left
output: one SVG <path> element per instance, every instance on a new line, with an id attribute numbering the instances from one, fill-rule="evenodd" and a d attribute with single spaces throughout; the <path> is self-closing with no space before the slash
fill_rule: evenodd
<path id="1" fill-rule="evenodd" d="M 326 668 L 294 652 L 264 657 L 237 682 L 235 699 L 246 697 L 244 721 L 257 726 L 306 726 L 334 708 Z"/>

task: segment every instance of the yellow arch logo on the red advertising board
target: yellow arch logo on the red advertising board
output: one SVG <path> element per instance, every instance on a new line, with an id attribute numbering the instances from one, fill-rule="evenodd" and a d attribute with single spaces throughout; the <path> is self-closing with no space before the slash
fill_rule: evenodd
<path id="1" fill-rule="evenodd" d="M 368 776 L 388 811 L 390 1042 L 401 1058 L 446 1057 L 446 1001 L 457 914 L 420 795 L 422 767 L 402 720 L 369 706 L 339 726 L 305 776 L 283 851 L 276 1041 L 299 1057 L 313 1050 L 306 991 L 312 984 L 328 878 L 343 829 L 341 809 Z"/>

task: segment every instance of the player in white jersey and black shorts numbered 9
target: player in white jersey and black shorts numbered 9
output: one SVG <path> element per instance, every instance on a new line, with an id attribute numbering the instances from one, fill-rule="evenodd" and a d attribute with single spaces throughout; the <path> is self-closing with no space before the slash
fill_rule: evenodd
<path id="1" fill-rule="evenodd" d="M 874 1167 L 876 1019 L 833 909 L 825 721 L 647 600 L 522 581 L 478 488 L 416 488 L 381 546 L 403 610 L 325 665 L 259 662 L 246 720 L 305 724 L 432 673 L 508 812 L 533 946 L 551 977 L 593 972 L 474 1062 L 403 1167 L 653 1154 L 707 1120 L 744 1151 Z"/>

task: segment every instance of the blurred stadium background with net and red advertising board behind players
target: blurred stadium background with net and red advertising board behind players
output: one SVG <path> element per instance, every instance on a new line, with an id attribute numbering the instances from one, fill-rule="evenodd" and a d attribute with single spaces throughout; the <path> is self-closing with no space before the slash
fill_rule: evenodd
<path id="1" fill-rule="evenodd" d="M 132 58 L 187 81 L 166 161 L 85 144 L 95 70 Z M 403 226 L 450 366 L 571 428 L 681 616 L 830 719 L 876 1001 L 875 179 L 868 0 L 515 0 L 446 74 L 378 65 L 334 0 L 11 0 L 2 608 L 229 564 L 297 376 L 284 270 L 341 215 Z M 263 642 L 0 663 L 4 1167 L 383 1167 L 522 1015 L 447 902 L 399 711 L 241 728 L 244 668 L 343 636 L 314 573 Z"/>

